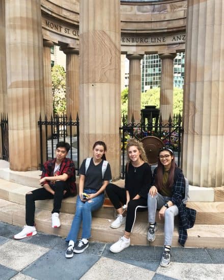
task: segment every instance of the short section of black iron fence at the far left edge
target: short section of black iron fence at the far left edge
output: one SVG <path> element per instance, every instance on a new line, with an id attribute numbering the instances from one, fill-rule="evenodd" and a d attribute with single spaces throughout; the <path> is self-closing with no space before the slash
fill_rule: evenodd
<path id="1" fill-rule="evenodd" d="M 9 161 L 8 115 L 1 114 L 2 159 Z"/>

